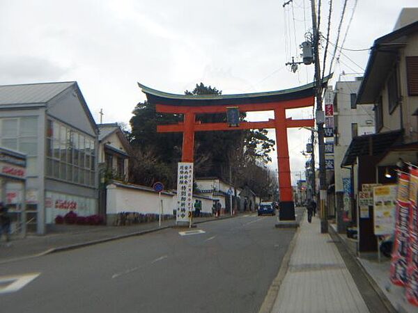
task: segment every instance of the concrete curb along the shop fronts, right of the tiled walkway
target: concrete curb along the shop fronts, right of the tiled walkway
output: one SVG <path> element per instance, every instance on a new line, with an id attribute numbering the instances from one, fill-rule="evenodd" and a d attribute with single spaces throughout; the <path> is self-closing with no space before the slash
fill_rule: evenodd
<path id="1" fill-rule="evenodd" d="M 362 272 L 362 274 L 364 275 L 364 277 L 366 278 L 366 280 L 369 282 L 369 284 L 371 285 L 372 289 L 376 292 L 376 294 L 378 295 L 378 298 L 380 298 L 380 301 L 382 302 L 382 305 L 385 306 L 387 312 L 391 312 L 391 313 L 392 312 L 393 313 L 398 312 L 397 310 L 395 310 L 394 306 L 389 301 L 389 299 L 387 298 L 387 296 L 385 296 L 385 294 L 383 293 L 382 289 L 380 289 L 380 287 L 378 286 L 378 284 L 373 280 L 373 278 L 371 277 L 371 275 L 366 271 L 366 269 L 364 268 L 363 264 L 361 262 L 359 262 L 359 260 L 357 259 L 357 255 L 355 255 L 355 254 L 353 254 L 353 252 L 351 252 L 351 250 L 348 247 L 346 241 L 344 241 L 341 238 L 341 236 L 334 230 L 334 228 L 328 227 L 328 231 L 329 231 L 329 234 L 330 234 L 331 238 L 334 239 L 334 241 L 335 241 L 335 239 L 338 239 L 338 241 L 341 243 L 341 246 L 343 246 L 344 250 L 346 250 L 346 252 L 348 253 L 348 255 L 350 255 L 350 257 L 354 260 L 355 264 L 357 264 L 357 267 L 360 269 L 360 271 Z M 337 249 L 338 249 L 338 246 L 337 246 Z M 344 263 L 345 262 L 346 262 L 346 260 L 344 259 Z M 349 272 L 350 272 L 350 270 L 349 270 Z M 355 280 L 355 284 L 357 285 L 356 280 Z M 360 294 L 362 295 L 362 298 L 364 299 L 363 294 L 361 292 L 360 292 Z M 367 307 L 369 307 L 369 305 L 368 305 L 368 303 L 367 303 L 367 301 L 365 299 L 364 299 L 364 302 L 366 303 Z"/>

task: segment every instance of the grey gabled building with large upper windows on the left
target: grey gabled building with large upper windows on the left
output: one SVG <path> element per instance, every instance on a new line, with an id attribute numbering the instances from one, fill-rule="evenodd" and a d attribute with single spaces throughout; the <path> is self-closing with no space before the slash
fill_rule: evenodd
<path id="1" fill-rule="evenodd" d="M 26 195 L 17 193 L 28 230 L 45 234 L 68 211 L 98 212 L 98 127 L 77 82 L 0 86 L 0 147 L 26 154 Z M 16 192 L 1 187 L 3 200 Z"/>

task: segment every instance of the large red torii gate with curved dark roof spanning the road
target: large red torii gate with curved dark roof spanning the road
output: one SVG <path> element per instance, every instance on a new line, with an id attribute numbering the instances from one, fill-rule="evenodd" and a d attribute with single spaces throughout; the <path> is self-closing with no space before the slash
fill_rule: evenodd
<path id="1" fill-rule="evenodd" d="M 286 118 L 286 109 L 314 106 L 314 83 L 287 90 L 241 95 L 176 95 L 148 88 L 140 83 L 138 85 L 146 94 L 148 102 L 156 105 L 158 113 L 184 115 L 183 122 L 179 122 L 177 125 L 157 125 L 157 132 L 160 133 L 183 133 L 183 162 L 193 162 L 194 160 L 194 133 L 196 131 L 274 128 L 276 130 L 279 168 L 280 218 L 281 220 L 295 220 L 287 129 L 289 127 L 314 127 L 315 122 L 314 120 Z M 274 120 L 240 122 L 238 126 L 229 126 L 224 122 L 201 123 L 196 121 L 196 114 L 226 113 L 231 106 L 238 107 L 240 112 L 274 111 Z"/>

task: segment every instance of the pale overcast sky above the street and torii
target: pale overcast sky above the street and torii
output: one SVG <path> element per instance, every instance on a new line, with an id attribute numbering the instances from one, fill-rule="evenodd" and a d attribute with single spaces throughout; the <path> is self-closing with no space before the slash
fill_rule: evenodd
<path id="1" fill-rule="evenodd" d="M 300 65 L 294 74 L 284 64 L 300 54 L 297 46 L 311 30 L 310 1 L 293 0 L 283 8 L 284 2 L 2 0 L 0 85 L 77 81 L 96 122 L 103 109 L 104 122 L 126 123 L 145 99 L 137 81 L 171 93 L 184 93 L 200 82 L 224 94 L 300 86 L 312 81 L 313 65 Z M 329 1 L 322 2 L 320 25 L 326 35 Z M 355 8 L 343 43 L 348 49 L 371 47 L 392 31 L 401 8 L 417 6 L 416 0 L 359 0 L 355 7 L 356 2 L 347 1 L 341 27 L 339 45 Z M 342 3 L 333 1 L 334 43 Z M 328 51 L 330 60 L 334 47 Z M 343 50 L 333 65 L 332 85 L 361 75 L 368 58 L 368 51 Z M 311 113 L 288 115 L 309 118 Z M 303 170 L 300 152 L 308 138 L 309 131 L 288 131 L 293 180 Z M 276 154 L 272 157 L 271 166 L 277 168 Z"/>

